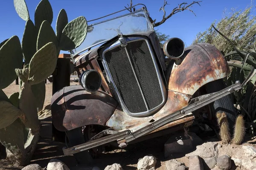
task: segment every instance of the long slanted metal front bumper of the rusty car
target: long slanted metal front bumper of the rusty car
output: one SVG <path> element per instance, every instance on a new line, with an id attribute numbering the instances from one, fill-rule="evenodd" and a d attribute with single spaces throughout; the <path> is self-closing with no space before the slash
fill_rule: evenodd
<path id="1" fill-rule="evenodd" d="M 161 119 L 158 119 L 154 123 L 151 123 L 145 127 L 142 127 L 133 133 L 131 133 L 130 130 L 125 130 L 125 131 L 118 132 L 113 135 L 105 136 L 105 137 L 102 137 L 102 138 L 99 138 L 99 139 L 96 139 L 96 140 L 93 140 L 90 142 L 86 142 L 84 144 L 79 144 L 74 147 L 63 149 L 64 155 L 71 155 L 74 153 L 78 153 L 78 152 L 81 152 L 84 150 L 91 149 L 93 147 L 98 147 L 100 145 L 107 144 L 107 143 L 113 142 L 113 141 L 122 140 L 122 143 L 124 143 L 124 145 L 125 145 L 128 142 L 131 142 L 141 136 L 145 136 L 145 135 L 151 133 L 152 131 L 156 130 L 159 127 L 162 127 L 164 125 L 167 125 L 167 124 L 175 121 L 176 119 L 179 119 L 180 117 L 186 115 L 187 113 L 196 111 L 199 108 L 202 108 L 202 107 L 214 102 L 215 100 L 221 99 L 222 97 L 227 96 L 227 95 L 233 93 L 234 91 L 240 90 L 241 88 L 242 88 L 241 83 L 239 81 L 236 81 L 236 84 L 230 85 L 229 87 L 224 88 L 221 91 L 218 91 L 216 93 L 213 93 L 212 95 L 206 96 L 205 98 L 199 100 L 198 102 L 188 105 L 185 108 L 181 109 L 180 111 L 169 114 L 168 116 L 165 116 Z"/>

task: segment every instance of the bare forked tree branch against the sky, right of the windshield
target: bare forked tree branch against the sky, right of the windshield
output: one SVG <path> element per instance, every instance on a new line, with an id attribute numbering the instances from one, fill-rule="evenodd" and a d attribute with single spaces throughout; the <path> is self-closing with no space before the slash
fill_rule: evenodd
<path id="1" fill-rule="evenodd" d="M 161 11 L 161 10 L 163 11 L 163 19 L 162 19 L 160 22 L 153 23 L 153 26 L 154 26 L 154 27 L 160 26 L 161 24 L 163 24 L 164 22 L 166 22 L 166 20 L 167 20 L 168 18 L 172 17 L 172 15 L 177 14 L 177 13 L 180 12 L 180 11 L 189 10 L 190 12 L 192 12 L 192 13 L 195 15 L 195 13 L 194 13 L 189 7 L 192 7 L 193 4 L 198 4 L 199 6 L 201 6 L 201 5 L 200 5 L 201 2 L 202 2 L 202 1 L 193 1 L 193 2 L 190 3 L 189 5 L 188 5 L 188 3 L 181 3 L 180 5 L 178 5 L 178 7 L 174 8 L 174 9 L 172 10 L 172 12 L 166 17 L 166 11 L 165 11 L 164 7 L 165 7 L 166 5 L 169 5 L 169 4 L 167 3 L 166 0 L 164 0 L 163 6 L 159 9 L 159 11 Z M 195 15 L 195 16 L 196 16 L 196 15 Z M 154 21 L 155 21 L 155 20 L 154 20 Z"/>

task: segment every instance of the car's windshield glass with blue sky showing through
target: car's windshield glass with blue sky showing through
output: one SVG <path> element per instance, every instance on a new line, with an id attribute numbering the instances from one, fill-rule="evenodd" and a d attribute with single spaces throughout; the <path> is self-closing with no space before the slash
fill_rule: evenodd
<path id="1" fill-rule="evenodd" d="M 138 10 L 88 26 L 87 36 L 84 42 L 76 48 L 76 52 L 82 52 L 92 45 L 110 40 L 120 32 L 127 35 L 152 30 L 145 10 Z"/>

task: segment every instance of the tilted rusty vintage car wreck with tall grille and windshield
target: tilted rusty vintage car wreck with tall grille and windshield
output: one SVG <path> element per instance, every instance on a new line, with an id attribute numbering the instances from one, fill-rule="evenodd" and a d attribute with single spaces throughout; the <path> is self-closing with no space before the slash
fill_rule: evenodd
<path id="1" fill-rule="evenodd" d="M 217 111 L 232 125 L 229 94 L 241 84 L 224 86 L 229 66 L 221 51 L 205 43 L 185 48 L 179 38 L 162 49 L 145 7 L 89 25 L 85 43 L 71 54 L 80 85 L 52 96 L 53 125 L 70 142 L 65 155 L 88 161 L 104 144 L 125 147 L 195 119 L 214 120 Z"/>

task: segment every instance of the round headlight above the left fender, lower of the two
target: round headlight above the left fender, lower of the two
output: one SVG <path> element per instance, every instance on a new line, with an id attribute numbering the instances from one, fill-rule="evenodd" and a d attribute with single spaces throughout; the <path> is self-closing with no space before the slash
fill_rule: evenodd
<path id="1" fill-rule="evenodd" d="M 86 70 L 81 74 L 79 82 L 84 90 L 92 93 L 99 90 L 102 84 L 102 79 L 98 71 Z"/>

